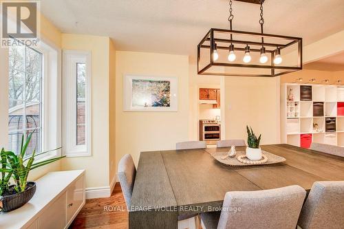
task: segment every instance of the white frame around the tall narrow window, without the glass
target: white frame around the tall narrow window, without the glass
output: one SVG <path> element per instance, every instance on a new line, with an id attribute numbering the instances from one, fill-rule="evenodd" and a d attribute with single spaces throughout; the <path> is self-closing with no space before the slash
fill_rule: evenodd
<path id="1" fill-rule="evenodd" d="M 86 64 L 85 144 L 76 144 L 76 64 Z M 92 155 L 91 122 L 91 52 L 63 50 L 63 155 L 84 157 Z"/>

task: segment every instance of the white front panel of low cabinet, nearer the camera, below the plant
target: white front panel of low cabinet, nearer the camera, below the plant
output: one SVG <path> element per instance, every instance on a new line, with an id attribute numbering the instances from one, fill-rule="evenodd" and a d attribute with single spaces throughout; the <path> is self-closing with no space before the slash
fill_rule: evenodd
<path id="1" fill-rule="evenodd" d="M 63 193 L 39 217 L 39 229 L 61 229 L 66 226 L 66 194 Z"/>

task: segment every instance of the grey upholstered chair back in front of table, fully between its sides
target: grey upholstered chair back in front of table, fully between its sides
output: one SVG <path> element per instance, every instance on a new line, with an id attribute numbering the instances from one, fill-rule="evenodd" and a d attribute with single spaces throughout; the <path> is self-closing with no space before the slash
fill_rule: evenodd
<path id="1" fill-rule="evenodd" d="M 300 186 L 228 192 L 217 229 L 295 229 L 305 199 Z"/>

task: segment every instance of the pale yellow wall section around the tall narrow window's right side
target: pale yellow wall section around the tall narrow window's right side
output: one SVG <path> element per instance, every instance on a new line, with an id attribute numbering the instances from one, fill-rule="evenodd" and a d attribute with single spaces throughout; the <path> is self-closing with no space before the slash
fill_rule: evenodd
<path id="1" fill-rule="evenodd" d="M 92 156 L 67 157 L 62 170 L 85 169 L 86 187 L 109 186 L 109 38 L 62 34 L 63 50 L 92 54 Z"/>

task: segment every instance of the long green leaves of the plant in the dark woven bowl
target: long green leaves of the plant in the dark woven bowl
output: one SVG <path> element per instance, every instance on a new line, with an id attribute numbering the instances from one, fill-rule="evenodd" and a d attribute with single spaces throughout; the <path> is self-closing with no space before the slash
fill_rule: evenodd
<path id="1" fill-rule="evenodd" d="M 34 131 L 32 132 L 34 133 Z M 6 192 L 8 189 L 8 181 L 10 177 L 13 177 L 15 186 L 14 190 L 17 193 L 21 193 L 25 190 L 27 180 L 28 180 L 28 175 L 30 171 L 34 168 L 39 168 L 41 166 L 44 166 L 46 164 L 50 164 L 52 162 L 55 162 L 57 160 L 60 160 L 61 157 L 54 157 L 49 160 L 43 160 L 40 162 L 34 163 L 34 159 L 38 155 L 42 155 L 44 153 L 49 153 L 51 151 L 55 151 L 58 149 L 61 149 L 61 147 L 51 150 L 51 151 L 45 151 L 42 153 L 37 153 L 36 150 L 32 152 L 32 155 L 30 157 L 25 157 L 26 150 L 28 149 L 28 145 L 30 143 L 32 133 L 28 136 L 27 140 L 24 143 L 24 135 L 21 137 L 21 151 L 16 155 L 12 151 L 5 151 L 1 150 L 0 156 L 1 156 L 1 190 L 0 190 L 0 195 Z M 7 174 L 6 174 L 7 173 Z"/>

